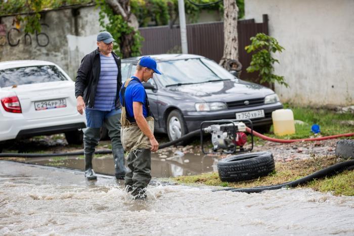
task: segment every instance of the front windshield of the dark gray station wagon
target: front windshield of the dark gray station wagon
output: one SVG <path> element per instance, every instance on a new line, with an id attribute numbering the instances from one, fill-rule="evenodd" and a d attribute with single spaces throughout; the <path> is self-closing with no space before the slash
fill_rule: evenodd
<path id="1" fill-rule="evenodd" d="M 158 62 L 157 67 L 163 74 L 155 74 L 163 86 L 235 79 L 223 67 L 205 58 Z"/>

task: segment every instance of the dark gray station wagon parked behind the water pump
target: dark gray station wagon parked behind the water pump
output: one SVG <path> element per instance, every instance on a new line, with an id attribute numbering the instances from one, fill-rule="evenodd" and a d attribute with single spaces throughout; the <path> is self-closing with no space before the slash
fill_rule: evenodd
<path id="1" fill-rule="evenodd" d="M 214 61 L 190 54 L 151 55 L 162 75 L 144 83 L 155 117 L 155 132 L 170 140 L 200 128 L 206 120 L 251 119 L 268 131 L 272 112 L 282 109 L 276 93 L 236 78 Z M 122 60 L 122 80 L 134 74 L 140 57 Z"/>

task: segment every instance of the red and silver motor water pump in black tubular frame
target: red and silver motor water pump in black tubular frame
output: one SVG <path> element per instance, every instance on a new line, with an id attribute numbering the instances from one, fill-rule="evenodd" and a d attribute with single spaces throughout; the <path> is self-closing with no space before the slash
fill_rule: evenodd
<path id="1" fill-rule="evenodd" d="M 251 148 L 245 149 L 247 143 L 246 123 L 251 127 Z M 213 120 L 204 121 L 200 125 L 202 152 L 210 153 L 237 153 L 248 152 L 253 149 L 253 127 L 251 120 Z M 204 149 L 204 133 L 211 134 L 212 148 Z"/>

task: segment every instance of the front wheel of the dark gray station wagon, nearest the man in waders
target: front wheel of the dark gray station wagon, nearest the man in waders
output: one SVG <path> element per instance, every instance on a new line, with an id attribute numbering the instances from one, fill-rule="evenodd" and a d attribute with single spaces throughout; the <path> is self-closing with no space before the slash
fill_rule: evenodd
<path id="1" fill-rule="evenodd" d="M 168 114 L 166 122 L 167 134 L 170 141 L 178 139 L 187 134 L 187 125 L 185 119 L 180 111 L 173 110 Z M 186 144 L 187 141 L 179 143 Z"/>

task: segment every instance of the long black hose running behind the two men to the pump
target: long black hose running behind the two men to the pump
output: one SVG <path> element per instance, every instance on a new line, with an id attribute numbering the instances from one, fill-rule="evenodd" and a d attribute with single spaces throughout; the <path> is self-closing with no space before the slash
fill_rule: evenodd
<path id="1" fill-rule="evenodd" d="M 168 143 L 162 144 L 159 146 L 159 149 L 163 149 L 169 146 L 172 146 L 174 144 L 178 144 L 181 141 L 184 141 L 186 139 L 189 139 L 193 136 L 195 136 L 196 134 L 199 134 L 200 130 L 195 130 L 192 131 L 190 133 L 187 133 L 186 135 L 183 135 L 182 137 L 175 139 L 173 141 L 169 141 Z M 98 150 L 95 152 L 95 154 L 112 154 L 111 150 Z M 79 152 L 72 152 L 72 153 L 0 153 L 0 158 L 1 157 L 26 157 L 26 158 L 30 158 L 30 157 L 65 157 L 65 156 L 80 156 L 83 155 L 83 151 L 79 151 Z"/>

